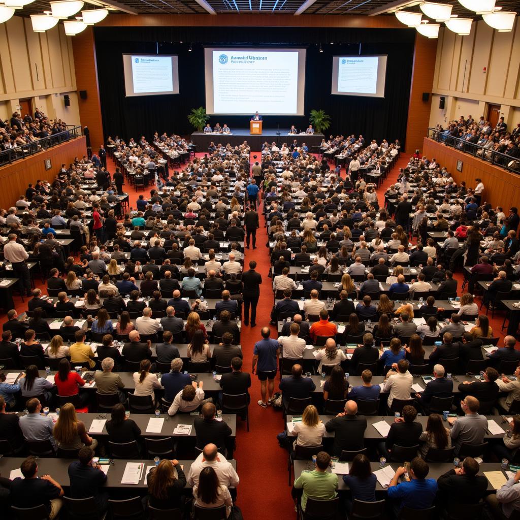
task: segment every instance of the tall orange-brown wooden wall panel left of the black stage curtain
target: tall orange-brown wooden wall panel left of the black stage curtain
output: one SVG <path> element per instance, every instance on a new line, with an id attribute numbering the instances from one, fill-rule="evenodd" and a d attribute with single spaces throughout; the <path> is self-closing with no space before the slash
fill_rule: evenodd
<path id="1" fill-rule="evenodd" d="M 99 145 L 105 141 L 103 140 L 96 49 L 92 27 L 87 27 L 80 34 L 76 34 L 72 39 L 72 47 L 74 49 L 76 88 L 77 90 L 87 91 L 87 99 L 78 98 L 77 100 L 80 108 L 81 126 L 88 126 L 90 144 L 92 149 L 97 151 Z"/>

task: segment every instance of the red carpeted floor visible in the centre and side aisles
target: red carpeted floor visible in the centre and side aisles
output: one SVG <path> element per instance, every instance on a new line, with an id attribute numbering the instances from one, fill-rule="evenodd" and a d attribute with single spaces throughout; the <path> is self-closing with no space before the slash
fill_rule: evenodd
<path id="1" fill-rule="evenodd" d="M 255 152 L 259 154 L 259 152 Z M 203 155 L 203 154 L 200 154 Z M 253 163 L 253 158 L 251 158 Z M 388 175 L 379 191 L 379 204 L 384 205 L 384 192 L 387 187 L 395 183 L 399 168 L 406 166 L 408 156 L 406 154 L 397 161 L 392 172 Z M 108 170 L 113 172 L 115 165 L 108 159 Z M 344 174 L 344 172 L 342 172 Z M 125 186 L 130 195 L 130 205 L 135 206 L 137 193 L 129 185 Z M 142 192 L 141 192 L 142 193 Z M 241 333 L 242 350 L 244 354 L 244 371 L 251 371 L 251 360 L 253 357 L 253 346 L 260 339 L 260 329 L 269 326 L 270 311 L 273 305 L 273 294 L 271 279 L 267 277 L 269 272 L 269 251 L 266 248 L 267 233 L 264 227 L 264 219 L 261 217 L 261 227 L 257 232 L 257 249 L 245 250 L 245 266 L 251 259 L 257 262 L 257 271 L 262 274 L 263 284 L 257 308 L 257 326 L 255 328 L 243 327 Z M 462 275 L 456 275 L 460 286 Z M 45 285 L 41 280 L 36 280 L 36 286 L 45 292 Z M 27 300 L 21 302 L 20 297 L 15 296 L 15 306 L 18 313 L 27 310 Z M 477 301 L 479 304 L 480 302 Z M 3 315 L 0 323 L 6 320 Z M 500 332 L 503 314 L 498 313 L 490 324 L 497 333 Z M 273 337 L 277 336 L 276 327 L 270 327 Z M 279 379 L 275 381 L 277 386 Z M 237 424 L 237 471 L 241 482 L 238 488 L 237 504 L 243 511 L 244 518 L 255 518 L 266 515 L 269 518 L 288 518 L 294 515 L 294 505 L 291 500 L 290 488 L 287 485 L 287 451 L 278 446 L 276 435 L 284 430 L 282 415 L 272 407 L 267 409 L 259 407 L 256 402 L 260 398 L 260 385 L 256 376 L 252 377 L 250 406 L 250 432 L 248 433 L 245 423 L 238 421 Z"/>

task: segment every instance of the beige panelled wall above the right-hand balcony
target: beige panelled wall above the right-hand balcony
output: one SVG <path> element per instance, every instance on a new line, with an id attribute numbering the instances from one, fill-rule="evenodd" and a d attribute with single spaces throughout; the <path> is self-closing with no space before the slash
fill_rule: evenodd
<path id="1" fill-rule="evenodd" d="M 484 71 L 484 68 L 486 70 Z M 486 115 L 487 104 L 501 105 L 511 128 L 520 122 L 520 22 L 499 33 L 484 20 L 473 22 L 471 34 L 459 36 L 441 28 L 433 80 L 430 126 L 471 114 Z M 445 108 L 439 109 L 439 97 Z"/>

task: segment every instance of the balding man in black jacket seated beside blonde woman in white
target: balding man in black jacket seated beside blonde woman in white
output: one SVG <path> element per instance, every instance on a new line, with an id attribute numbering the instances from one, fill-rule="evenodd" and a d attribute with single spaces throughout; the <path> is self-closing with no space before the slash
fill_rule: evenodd
<path id="1" fill-rule="evenodd" d="M 342 450 L 357 451 L 365 448 L 365 430 L 367 419 L 357 414 L 356 401 L 347 401 L 345 411 L 338 413 L 325 425 L 328 432 L 334 432 L 333 452 L 341 456 Z"/>

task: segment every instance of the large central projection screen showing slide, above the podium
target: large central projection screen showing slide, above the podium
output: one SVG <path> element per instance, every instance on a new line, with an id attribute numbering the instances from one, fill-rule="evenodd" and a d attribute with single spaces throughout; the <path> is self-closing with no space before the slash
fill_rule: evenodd
<path id="1" fill-rule="evenodd" d="M 206 47 L 206 112 L 304 115 L 305 49 Z"/>

